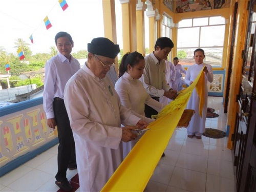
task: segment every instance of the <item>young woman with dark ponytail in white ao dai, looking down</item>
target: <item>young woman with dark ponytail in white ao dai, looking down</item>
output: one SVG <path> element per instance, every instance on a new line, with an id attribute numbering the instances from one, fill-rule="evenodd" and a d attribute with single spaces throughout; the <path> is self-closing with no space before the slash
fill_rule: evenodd
<path id="1" fill-rule="evenodd" d="M 122 58 L 119 67 L 119 79 L 115 84 L 115 90 L 121 99 L 122 105 L 143 116 L 145 115 L 144 103 L 150 105 L 158 112 L 164 107 L 164 104 L 152 99 L 147 94 L 142 82 L 139 80 L 143 74 L 144 67 L 145 60 L 142 54 L 138 52 L 126 53 Z M 143 120 L 147 123 L 154 121 L 146 117 Z M 123 142 L 124 158 L 138 142 L 138 139 L 127 143 Z"/>

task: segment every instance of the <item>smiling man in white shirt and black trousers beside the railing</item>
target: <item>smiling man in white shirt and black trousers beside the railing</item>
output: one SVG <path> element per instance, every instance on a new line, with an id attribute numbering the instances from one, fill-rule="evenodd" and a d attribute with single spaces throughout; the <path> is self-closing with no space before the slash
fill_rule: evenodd
<path id="1" fill-rule="evenodd" d="M 69 117 L 63 100 L 63 93 L 69 78 L 79 69 L 80 64 L 72 55 L 74 47 L 72 37 L 67 32 L 59 32 L 55 36 L 58 54 L 45 65 L 45 88 L 43 94 L 44 110 L 47 125 L 58 130 L 58 172 L 55 184 L 62 190 L 72 190 L 66 173 L 67 169 L 76 168 L 75 142 L 70 127 Z"/>

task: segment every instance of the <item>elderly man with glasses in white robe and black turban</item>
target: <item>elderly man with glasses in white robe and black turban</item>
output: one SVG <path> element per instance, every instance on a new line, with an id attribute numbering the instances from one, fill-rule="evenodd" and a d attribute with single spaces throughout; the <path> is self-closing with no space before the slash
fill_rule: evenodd
<path id="1" fill-rule="evenodd" d="M 86 65 L 66 85 L 64 101 L 76 144 L 80 191 L 100 191 L 123 160 L 122 141 L 135 140 L 138 135 L 132 130 L 143 129 L 146 122 L 121 105 L 113 83 L 104 78 L 119 46 L 98 37 L 88 44 L 88 52 Z"/>

